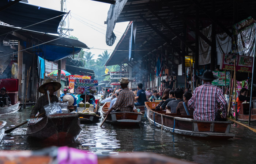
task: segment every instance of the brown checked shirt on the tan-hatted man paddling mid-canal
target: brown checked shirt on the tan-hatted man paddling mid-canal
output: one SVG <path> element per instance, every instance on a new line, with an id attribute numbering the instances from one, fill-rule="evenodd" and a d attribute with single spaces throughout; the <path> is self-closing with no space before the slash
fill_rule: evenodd
<path id="1" fill-rule="evenodd" d="M 125 88 L 118 95 L 116 103 L 112 106 L 112 108 L 114 108 L 114 110 L 119 109 L 122 112 L 131 112 L 134 106 L 134 98 L 133 91 Z"/>

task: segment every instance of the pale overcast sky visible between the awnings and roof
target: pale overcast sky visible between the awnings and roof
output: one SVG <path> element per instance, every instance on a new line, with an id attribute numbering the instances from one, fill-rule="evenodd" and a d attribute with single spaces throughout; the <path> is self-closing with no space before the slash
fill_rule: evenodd
<path id="1" fill-rule="evenodd" d="M 29 4 L 60 11 L 60 0 L 28 1 Z M 67 24 L 64 28 L 74 29 L 74 31 L 70 31 L 70 33 L 67 34 L 75 36 L 90 47 L 91 50 L 87 52 L 95 54 L 94 59 L 97 59 L 98 55 L 102 54 L 104 50 L 112 52 L 111 50 L 116 47 L 118 40 L 121 38 L 128 25 L 128 22 L 116 24 L 114 29 L 114 33 L 117 36 L 116 42 L 113 46 L 108 46 L 105 39 L 107 26 L 104 24 L 104 21 L 106 21 L 109 7 L 110 4 L 92 0 L 64 0 L 64 9 L 67 9 L 65 12 L 69 10 L 71 12 L 66 18 L 69 20 L 69 27 Z"/>

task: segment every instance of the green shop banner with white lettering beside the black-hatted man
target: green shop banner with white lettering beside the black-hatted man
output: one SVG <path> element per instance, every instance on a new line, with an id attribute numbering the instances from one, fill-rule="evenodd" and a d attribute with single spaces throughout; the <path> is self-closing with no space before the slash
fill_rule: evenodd
<path id="1" fill-rule="evenodd" d="M 225 71 L 212 71 L 213 75 L 218 76 L 219 78 L 212 81 L 212 85 L 216 86 L 225 86 Z M 226 72 L 226 85 L 229 85 L 230 82 L 230 72 Z"/>

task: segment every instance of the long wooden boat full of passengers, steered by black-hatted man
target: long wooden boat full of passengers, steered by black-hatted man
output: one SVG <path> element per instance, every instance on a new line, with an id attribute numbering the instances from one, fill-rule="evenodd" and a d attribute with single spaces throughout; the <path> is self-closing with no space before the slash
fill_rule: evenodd
<path id="1" fill-rule="evenodd" d="M 155 102 L 156 103 L 156 102 Z M 151 124 L 169 132 L 193 137 L 206 137 L 213 139 L 228 139 L 235 135 L 229 133 L 230 121 L 199 121 L 193 116 L 181 116 L 176 113 L 155 111 L 151 102 L 145 102 L 145 115 Z"/>

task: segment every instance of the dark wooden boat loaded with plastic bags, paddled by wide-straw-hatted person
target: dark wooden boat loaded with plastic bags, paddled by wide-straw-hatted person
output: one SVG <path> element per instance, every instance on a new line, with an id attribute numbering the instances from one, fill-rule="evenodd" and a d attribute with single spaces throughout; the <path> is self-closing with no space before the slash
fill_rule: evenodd
<path id="1" fill-rule="evenodd" d="M 58 113 L 27 125 L 27 134 L 50 145 L 71 144 L 81 132 L 78 114 Z"/>

